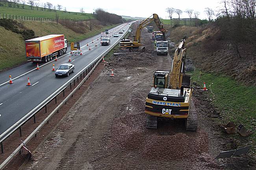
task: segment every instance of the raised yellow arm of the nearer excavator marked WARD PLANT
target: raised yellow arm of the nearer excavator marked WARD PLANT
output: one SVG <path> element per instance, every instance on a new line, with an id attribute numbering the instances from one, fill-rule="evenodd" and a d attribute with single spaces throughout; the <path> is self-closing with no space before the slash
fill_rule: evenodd
<path id="1" fill-rule="evenodd" d="M 185 39 L 182 40 L 175 50 L 173 57 L 173 67 L 172 73 L 170 76 L 170 88 L 171 89 L 180 89 L 182 86 L 182 78 L 185 74 L 186 66 L 186 48 L 185 48 Z"/>

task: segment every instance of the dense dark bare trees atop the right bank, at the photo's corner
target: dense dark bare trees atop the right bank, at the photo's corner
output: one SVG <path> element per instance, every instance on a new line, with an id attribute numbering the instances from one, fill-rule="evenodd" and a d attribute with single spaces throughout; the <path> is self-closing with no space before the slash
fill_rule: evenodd
<path id="1" fill-rule="evenodd" d="M 256 0 L 223 0 L 222 9 L 216 20 L 221 37 L 230 42 L 239 57 L 242 44 L 255 51 L 256 45 Z"/>

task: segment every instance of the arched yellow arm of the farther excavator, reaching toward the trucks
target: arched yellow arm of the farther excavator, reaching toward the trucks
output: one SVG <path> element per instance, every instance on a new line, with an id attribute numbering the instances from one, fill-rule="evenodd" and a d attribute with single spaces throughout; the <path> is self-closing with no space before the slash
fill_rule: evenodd
<path id="1" fill-rule="evenodd" d="M 152 17 L 153 16 L 153 17 Z M 151 18 L 152 17 L 152 18 Z M 137 26 L 137 30 L 136 30 L 136 34 L 135 34 L 135 39 L 134 41 L 138 41 L 141 42 L 141 30 L 143 28 L 145 28 L 145 26 L 147 26 L 148 24 L 150 24 L 151 22 L 155 22 L 156 26 L 158 27 L 158 29 L 163 33 L 163 37 L 165 39 L 165 30 L 163 29 L 163 24 L 161 23 L 160 18 L 158 17 L 157 14 L 153 14 L 150 17 L 148 17 L 147 19 L 143 20 L 138 26 Z"/>

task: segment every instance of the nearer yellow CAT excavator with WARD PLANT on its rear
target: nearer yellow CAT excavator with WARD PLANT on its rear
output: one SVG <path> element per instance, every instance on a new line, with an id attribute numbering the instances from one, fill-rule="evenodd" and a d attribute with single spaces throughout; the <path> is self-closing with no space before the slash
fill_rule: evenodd
<path id="1" fill-rule="evenodd" d="M 186 129 L 197 130 L 197 112 L 192 101 L 191 74 L 186 74 L 185 37 L 180 42 L 173 57 L 171 74 L 169 71 L 154 72 L 154 86 L 146 99 L 145 113 L 147 128 L 157 129 L 158 117 L 185 119 Z M 169 81 L 170 78 L 170 81 Z"/>

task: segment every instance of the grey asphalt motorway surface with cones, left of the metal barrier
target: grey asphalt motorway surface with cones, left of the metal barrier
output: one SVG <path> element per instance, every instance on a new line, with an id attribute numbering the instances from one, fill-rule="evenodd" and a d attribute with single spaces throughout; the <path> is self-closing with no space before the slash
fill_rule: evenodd
<path id="1" fill-rule="evenodd" d="M 109 29 L 109 32 L 119 28 L 128 30 L 130 25 L 122 24 L 115 28 Z M 111 34 L 112 35 L 112 34 Z M 111 44 L 119 41 L 122 34 L 119 37 L 111 36 Z M 23 116 L 28 114 L 39 103 L 43 102 L 48 96 L 64 85 L 69 79 L 81 71 L 84 67 L 89 65 L 95 58 L 97 58 L 102 52 L 110 48 L 110 46 L 101 46 L 100 39 L 95 41 L 97 37 L 100 38 L 100 34 L 86 39 L 80 42 L 83 55 L 72 56 L 72 64 L 75 65 L 75 72 L 70 74 L 69 77 L 56 78 L 55 72 L 52 72 L 52 64 L 55 64 L 55 68 L 63 63 L 68 63 L 69 52 L 58 58 L 58 61 L 52 61 L 48 63 L 39 63 L 40 70 L 34 70 L 36 68 L 35 63 L 26 63 L 19 67 L 13 68 L 0 74 L 0 134 L 3 133 L 18 122 Z M 94 43 L 90 43 L 91 41 Z M 92 50 L 88 50 L 90 43 Z M 98 46 L 95 46 L 97 42 Z M 25 57 L 25 54 L 24 54 Z M 13 84 L 8 84 L 9 75 L 12 76 Z M 26 86 L 28 77 L 32 86 Z"/>

